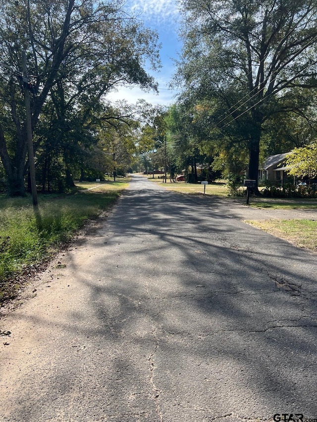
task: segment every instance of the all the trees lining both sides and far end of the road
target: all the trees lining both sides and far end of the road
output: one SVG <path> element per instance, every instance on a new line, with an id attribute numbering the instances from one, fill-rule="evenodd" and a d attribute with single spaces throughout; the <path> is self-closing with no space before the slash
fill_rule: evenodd
<path id="1" fill-rule="evenodd" d="M 158 35 L 123 1 L 1 1 L 0 190 L 30 190 L 24 94 L 31 99 L 36 183 L 167 168 L 171 179 L 258 181 L 265 157 L 316 149 L 317 1 L 180 1 L 183 49 L 169 107 L 110 103 L 133 84 L 156 90 Z M 27 77 L 22 56 L 26 53 Z M 316 177 L 310 168 L 290 175 Z M 198 172 L 199 168 L 199 172 Z M 256 188 L 258 192 L 258 188 Z"/>

